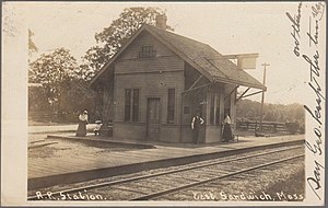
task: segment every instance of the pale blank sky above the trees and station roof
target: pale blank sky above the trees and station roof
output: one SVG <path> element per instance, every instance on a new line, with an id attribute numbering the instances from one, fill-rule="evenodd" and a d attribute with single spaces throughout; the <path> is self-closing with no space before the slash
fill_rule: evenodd
<path id="1" fill-rule="evenodd" d="M 292 23 L 285 14 L 296 14 L 297 4 L 25 2 L 17 3 L 15 9 L 34 33 L 33 41 L 38 48 L 34 58 L 65 47 L 80 60 L 96 44 L 95 33 L 109 26 L 125 8 L 159 7 L 166 11 L 167 24 L 177 34 L 209 44 L 223 55 L 258 53 L 257 68 L 247 72 L 262 82 L 262 63 L 270 65 L 267 67 L 265 102 L 291 104 L 304 103 L 308 79 L 307 67 L 293 54 Z M 308 7 L 311 4 L 304 5 L 303 10 Z M 261 95 L 249 99 L 260 102 Z"/>

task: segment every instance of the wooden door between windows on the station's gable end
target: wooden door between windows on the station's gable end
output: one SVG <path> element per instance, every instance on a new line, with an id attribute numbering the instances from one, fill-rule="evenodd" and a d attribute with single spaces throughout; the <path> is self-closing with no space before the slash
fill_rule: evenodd
<path id="1" fill-rule="evenodd" d="M 147 120 L 147 137 L 152 140 L 159 140 L 161 130 L 160 99 L 148 99 Z"/>

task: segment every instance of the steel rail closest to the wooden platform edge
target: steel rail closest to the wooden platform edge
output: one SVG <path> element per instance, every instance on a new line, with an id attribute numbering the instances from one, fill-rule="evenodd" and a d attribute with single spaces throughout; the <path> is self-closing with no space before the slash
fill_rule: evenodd
<path id="1" fill-rule="evenodd" d="M 51 193 L 51 196 L 55 197 L 55 196 L 60 196 L 60 194 L 77 193 L 77 192 L 80 192 L 80 190 L 91 189 L 91 188 L 99 188 L 99 187 L 103 187 L 103 186 L 113 186 L 113 185 L 124 184 L 124 183 L 133 182 L 133 181 L 138 181 L 138 180 L 145 180 L 145 178 L 150 178 L 150 177 L 156 177 L 156 176 L 161 176 L 161 175 L 167 175 L 167 174 L 172 174 L 172 173 L 178 173 L 178 172 L 189 171 L 189 170 L 204 167 L 204 166 L 223 164 L 223 163 L 227 163 L 227 162 L 232 162 L 232 161 L 238 161 L 238 160 L 255 158 L 255 157 L 259 157 L 259 155 L 266 155 L 266 154 L 271 154 L 271 153 L 277 153 L 277 152 L 293 150 L 293 149 L 300 149 L 303 146 L 296 146 L 296 147 L 284 148 L 284 149 L 279 149 L 279 150 L 272 150 L 272 151 L 262 152 L 262 153 L 256 153 L 256 154 L 251 154 L 251 155 L 239 157 L 239 158 L 235 158 L 235 159 L 226 159 L 226 160 L 216 161 L 216 162 L 208 162 L 206 164 L 191 165 L 191 166 L 187 166 L 187 167 L 183 167 L 183 169 L 178 169 L 178 170 L 164 171 L 164 172 L 161 172 L 161 173 L 154 173 L 154 174 L 134 176 L 134 177 L 129 177 L 129 178 L 122 178 L 122 180 L 112 181 L 112 182 L 104 182 L 104 183 L 99 183 L 99 184 L 86 185 L 86 186 L 77 187 L 77 188 L 69 188 L 69 189 L 63 189 L 63 190 L 57 190 L 57 192 Z M 43 195 L 39 195 L 39 196 L 37 196 L 37 195 L 35 195 L 35 196 L 28 196 L 27 200 L 39 199 L 39 198 L 44 198 L 44 197 L 47 197 L 47 196 L 48 196 L 47 194 L 43 194 Z"/>

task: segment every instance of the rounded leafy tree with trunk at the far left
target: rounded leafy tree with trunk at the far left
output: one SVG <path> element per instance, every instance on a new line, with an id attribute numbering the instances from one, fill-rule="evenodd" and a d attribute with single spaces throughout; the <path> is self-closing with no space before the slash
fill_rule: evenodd
<path id="1" fill-rule="evenodd" d="M 28 80 L 40 83 L 52 111 L 61 112 L 61 96 L 67 90 L 66 85 L 73 79 L 79 79 L 79 71 L 77 60 L 70 51 L 58 48 L 50 54 L 43 54 L 30 63 Z"/>

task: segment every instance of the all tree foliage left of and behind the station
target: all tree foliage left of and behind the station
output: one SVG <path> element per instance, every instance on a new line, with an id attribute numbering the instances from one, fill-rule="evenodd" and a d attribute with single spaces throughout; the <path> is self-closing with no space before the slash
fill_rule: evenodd
<path id="1" fill-rule="evenodd" d="M 66 48 L 43 54 L 30 63 L 30 83 L 42 86 L 28 88 L 28 109 L 49 111 L 52 114 L 77 114 L 87 108 L 94 117 L 101 117 L 102 96 L 89 89 L 87 82 L 125 45 L 143 24 L 155 25 L 155 19 L 165 12 L 159 8 L 127 8 L 119 18 L 102 32 L 95 34 L 97 45 L 92 46 L 82 57 L 79 66 Z M 168 30 L 172 27 L 167 26 Z M 37 51 L 28 31 L 30 55 Z"/>

